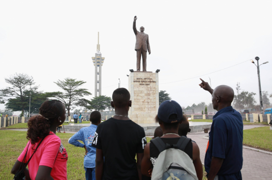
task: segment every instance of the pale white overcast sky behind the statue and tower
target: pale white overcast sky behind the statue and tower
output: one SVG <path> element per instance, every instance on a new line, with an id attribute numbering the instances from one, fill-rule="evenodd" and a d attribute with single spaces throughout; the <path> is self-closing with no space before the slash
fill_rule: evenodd
<path id="1" fill-rule="evenodd" d="M 270 62 L 260 67 L 260 74 L 262 90 L 271 94 L 271 7 L 271 0 L 2 0 L 0 89 L 9 86 L 4 78 L 17 72 L 31 75 L 43 91 L 57 91 L 53 82 L 71 77 L 86 81 L 83 87 L 94 94 L 91 57 L 98 32 L 105 57 L 102 95 L 111 96 L 119 78 L 127 88 L 126 75 L 136 70 L 136 15 L 137 29 L 144 26 L 149 36 L 147 70 L 160 69 L 159 90 L 166 90 L 181 106 L 211 102 L 197 76 L 206 81 L 210 77 L 213 88 L 235 89 L 240 82 L 242 90 L 257 93 L 258 101 L 257 68 L 250 59 L 258 56 L 260 63 Z M 226 67 L 230 68 L 218 71 Z"/>

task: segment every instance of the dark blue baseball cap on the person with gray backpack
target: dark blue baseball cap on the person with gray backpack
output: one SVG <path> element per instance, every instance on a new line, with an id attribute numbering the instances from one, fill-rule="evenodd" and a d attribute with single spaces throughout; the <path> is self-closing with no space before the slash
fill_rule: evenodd
<path id="1" fill-rule="evenodd" d="M 172 114 L 176 114 L 177 118 L 169 119 Z M 159 107 L 158 118 L 165 123 L 180 122 L 182 120 L 182 108 L 173 100 L 164 101 Z"/>

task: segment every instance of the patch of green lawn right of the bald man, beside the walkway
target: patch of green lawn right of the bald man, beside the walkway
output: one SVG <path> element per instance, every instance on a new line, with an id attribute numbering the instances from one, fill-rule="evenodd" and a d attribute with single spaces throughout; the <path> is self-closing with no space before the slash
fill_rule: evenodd
<path id="1" fill-rule="evenodd" d="M 272 130 L 269 126 L 244 130 L 243 144 L 272 152 L 271 137 Z"/>

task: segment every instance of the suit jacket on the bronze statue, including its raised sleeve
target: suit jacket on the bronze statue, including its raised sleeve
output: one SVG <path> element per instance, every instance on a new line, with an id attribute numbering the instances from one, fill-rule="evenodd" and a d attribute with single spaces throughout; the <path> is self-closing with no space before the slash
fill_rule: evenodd
<path id="1" fill-rule="evenodd" d="M 139 31 L 137 31 L 135 21 L 133 22 L 133 31 L 134 31 L 134 33 L 136 35 L 135 50 L 138 50 L 143 46 L 144 51 L 150 52 L 148 34 L 140 33 Z"/>

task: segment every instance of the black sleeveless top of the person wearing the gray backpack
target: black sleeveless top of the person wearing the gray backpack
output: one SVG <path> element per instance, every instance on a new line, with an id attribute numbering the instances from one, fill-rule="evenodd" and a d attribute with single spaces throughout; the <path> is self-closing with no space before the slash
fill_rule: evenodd
<path id="1" fill-rule="evenodd" d="M 173 138 L 161 138 L 164 143 L 168 143 L 170 145 L 176 144 L 180 137 L 173 137 Z M 150 141 L 149 144 L 149 150 L 150 150 L 150 160 L 152 162 L 152 165 L 155 165 L 155 162 L 160 154 L 159 150 L 156 148 L 156 146 Z M 193 159 L 193 144 L 192 141 L 190 141 L 184 152 Z"/>

